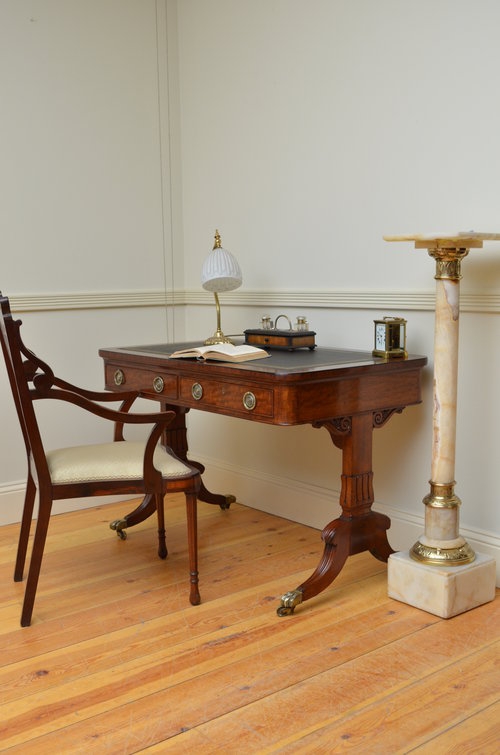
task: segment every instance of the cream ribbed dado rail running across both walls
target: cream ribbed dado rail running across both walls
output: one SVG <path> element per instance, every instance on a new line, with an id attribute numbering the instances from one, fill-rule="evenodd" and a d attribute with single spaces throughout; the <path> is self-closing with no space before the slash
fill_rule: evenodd
<path id="1" fill-rule="evenodd" d="M 224 303 L 240 307 L 302 307 L 304 309 L 393 309 L 433 311 L 434 291 L 251 291 L 223 294 Z M 119 309 L 131 307 L 212 306 L 211 297 L 198 290 L 78 291 L 46 294 L 13 294 L 13 312 Z M 500 294 L 462 293 L 462 312 L 500 314 Z"/>

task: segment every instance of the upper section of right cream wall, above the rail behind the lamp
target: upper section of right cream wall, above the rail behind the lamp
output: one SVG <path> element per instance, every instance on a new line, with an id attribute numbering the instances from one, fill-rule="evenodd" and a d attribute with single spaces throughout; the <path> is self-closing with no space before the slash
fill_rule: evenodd
<path id="1" fill-rule="evenodd" d="M 496 0 L 179 3 L 187 286 L 218 224 L 250 289 L 429 289 L 423 253 L 382 235 L 495 225 L 499 14 Z M 497 290 L 480 271 L 464 287 L 479 283 Z"/>

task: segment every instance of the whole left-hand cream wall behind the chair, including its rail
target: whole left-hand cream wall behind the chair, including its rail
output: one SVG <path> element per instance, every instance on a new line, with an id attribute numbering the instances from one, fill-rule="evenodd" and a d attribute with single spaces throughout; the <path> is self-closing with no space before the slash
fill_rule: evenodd
<path id="1" fill-rule="evenodd" d="M 0 2 L 0 290 L 27 345 L 89 388 L 103 387 L 99 347 L 183 335 L 165 305 L 183 287 L 175 43 L 154 0 Z M 4 522 L 26 462 L 3 367 L 0 397 Z M 49 447 L 96 438 L 75 428 L 52 415 Z"/>

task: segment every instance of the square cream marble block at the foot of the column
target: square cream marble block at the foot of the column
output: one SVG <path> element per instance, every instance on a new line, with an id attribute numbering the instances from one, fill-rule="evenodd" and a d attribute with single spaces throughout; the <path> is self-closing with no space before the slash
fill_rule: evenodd
<path id="1" fill-rule="evenodd" d="M 432 566 L 393 553 L 388 562 L 390 598 L 443 619 L 489 603 L 495 597 L 495 559 L 476 553 L 465 566 Z"/>

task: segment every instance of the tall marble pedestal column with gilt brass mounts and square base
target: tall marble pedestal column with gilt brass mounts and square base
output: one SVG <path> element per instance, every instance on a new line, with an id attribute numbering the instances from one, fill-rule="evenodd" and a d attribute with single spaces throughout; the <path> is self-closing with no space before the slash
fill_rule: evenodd
<path id="1" fill-rule="evenodd" d="M 433 434 L 430 492 L 424 498 L 425 532 L 409 553 L 389 559 L 390 597 L 450 618 L 495 597 L 494 559 L 476 554 L 460 535 L 455 495 L 458 331 L 461 261 L 471 248 L 500 234 L 388 236 L 414 241 L 436 261 Z"/>

